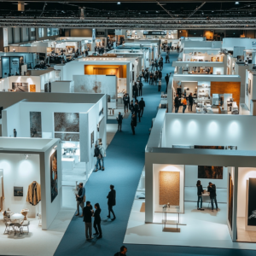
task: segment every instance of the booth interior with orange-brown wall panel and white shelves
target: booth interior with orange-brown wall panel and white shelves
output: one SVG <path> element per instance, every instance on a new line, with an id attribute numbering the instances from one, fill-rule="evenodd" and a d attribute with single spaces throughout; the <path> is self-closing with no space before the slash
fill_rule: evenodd
<path id="1" fill-rule="evenodd" d="M 194 113 L 238 113 L 241 102 L 241 78 L 229 75 L 174 74 L 168 85 L 168 112 L 174 111 L 174 97 L 183 98 L 192 93 Z"/>

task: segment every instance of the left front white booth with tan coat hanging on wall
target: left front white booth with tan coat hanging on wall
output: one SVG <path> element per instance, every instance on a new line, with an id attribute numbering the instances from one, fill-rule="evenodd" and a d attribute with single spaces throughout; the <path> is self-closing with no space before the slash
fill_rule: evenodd
<path id="1" fill-rule="evenodd" d="M 61 141 L 0 137 L 0 144 L 1 210 L 22 220 L 26 209 L 28 218 L 40 216 L 42 230 L 48 230 L 62 204 Z"/>

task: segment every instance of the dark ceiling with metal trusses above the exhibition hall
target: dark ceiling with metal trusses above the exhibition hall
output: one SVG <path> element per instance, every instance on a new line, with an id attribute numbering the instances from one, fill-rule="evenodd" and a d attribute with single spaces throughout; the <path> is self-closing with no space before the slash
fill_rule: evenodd
<path id="1" fill-rule="evenodd" d="M 4 1 L 0 26 L 134 29 L 256 29 L 255 1 Z M 2 1 L 3 2 L 3 1 Z M 101 3 L 96 3 L 101 2 Z M 147 3 L 145 3 L 147 2 Z M 185 3 L 184 3 L 185 2 Z"/>

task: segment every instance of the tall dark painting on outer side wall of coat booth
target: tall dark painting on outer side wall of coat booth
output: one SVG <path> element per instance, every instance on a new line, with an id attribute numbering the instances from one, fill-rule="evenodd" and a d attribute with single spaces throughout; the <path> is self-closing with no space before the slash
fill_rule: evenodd
<path id="1" fill-rule="evenodd" d="M 50 171 L 50 198 L 51 202 L 55 200 L 58 195 L 58 163 L 57 163 L 57 150 L 50 156 L 49 160 Z"/>

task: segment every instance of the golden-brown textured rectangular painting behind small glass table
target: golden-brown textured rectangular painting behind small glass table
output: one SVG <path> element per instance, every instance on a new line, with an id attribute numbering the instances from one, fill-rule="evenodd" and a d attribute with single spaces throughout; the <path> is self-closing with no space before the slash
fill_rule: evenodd
<path id="1" fill-rule="evenodd" d="M 163 172 L 160 171 L 159 184 L 159 204 L 171 206 L 179 206 L 179 172 Z"/>

